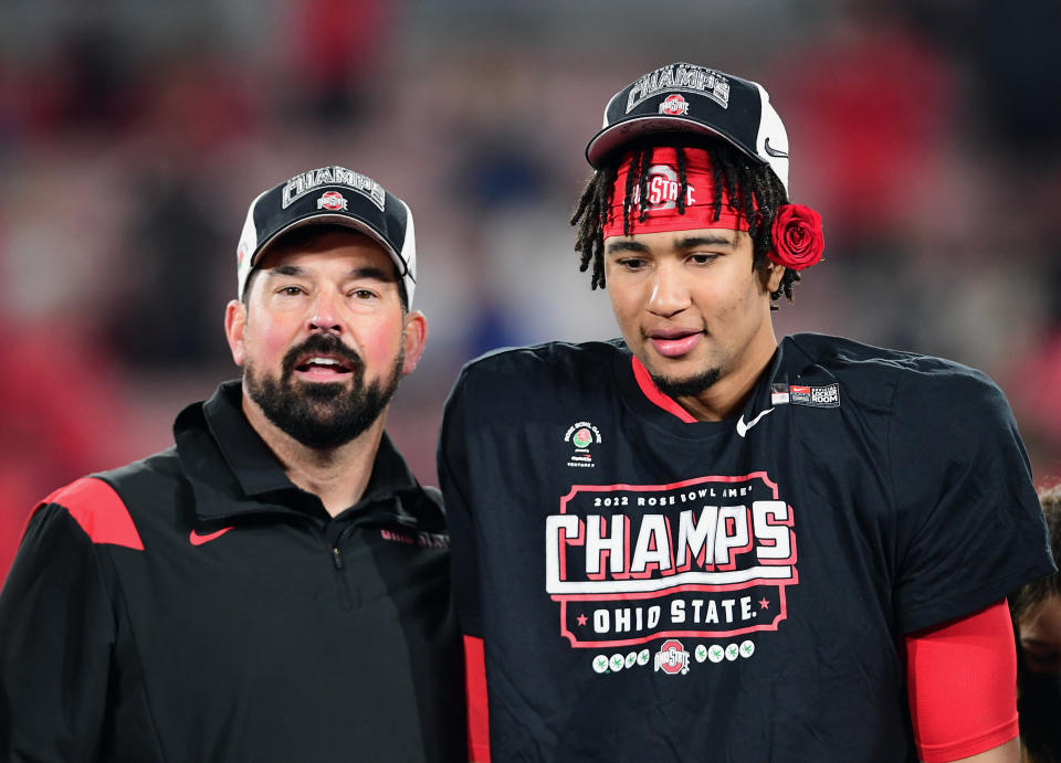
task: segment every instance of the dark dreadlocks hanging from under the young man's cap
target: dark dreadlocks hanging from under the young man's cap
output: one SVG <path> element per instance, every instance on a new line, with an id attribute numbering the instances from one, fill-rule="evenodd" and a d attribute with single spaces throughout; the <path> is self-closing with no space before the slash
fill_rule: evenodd
<path id="1" fill-rule="evenodd" d="M 746 220 L 750 221 L 748 234 L 752 236 L 753 267 L 761 267 L 766 255 L 774 248 L 770 229 L 774 216 L 781 204 L 788 203 L 788 195 L 781 181 L 765 165 L 759 165 L 723 140 L 690 138 L 680 134 L 655 135 L 649 139 L 628 145 L 623 150 L 612 152 L 600 169 L 596 170 L 582 189 L 582 194 L 571 215 L 571 225 L 577 225 L 575 251 L 580 253 L 579 271 L 585 273 L 592 265 L 592 288 L 605 285 L 605 237 L 603 229 L 614 197 L 616 177 L 622 162 L 632 157 L 631 171 L 627 173 L 627 187 L 622 209 L 622 232 L 630 235 L 630 215 L 638 213 L 639 222 L 644 222 L 644 203 L 634 199 L 633 184 L 638 183 L 637 199 L 648 199 L 649 167 L 655 148 L 673 148 L 677 152 L 677 213 L 685 214 L 685 199 L 689 182 L 685 177 L 686 157 L 684 149 L 702 148 L 707 151 L 714 180 L 714 219 L 722 214 L 723 192 L 739 204 Z M 637 168 L 637 172 L 634 172 Z M 637 205 L 640 210 L 634 210 Z M 778 308 L 777 300 L 784 294 L 792 301 L 792 287 L 800 280 L 798 271 L 785 269 L 777 290 L 770 294 L 770 309 Z"/>

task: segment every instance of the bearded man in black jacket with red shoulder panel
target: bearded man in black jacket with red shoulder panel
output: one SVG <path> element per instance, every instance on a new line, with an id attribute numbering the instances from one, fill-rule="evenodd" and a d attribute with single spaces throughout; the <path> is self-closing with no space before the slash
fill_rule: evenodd
<path id="1" fill-rule="evenodd" d="M 384 431 L 423 351 L 409 208 L 344 167 L 250 206 L 242 381 L 34 510 L 0 594 L 4 761 L 464 756 L 449 536 Z"/>

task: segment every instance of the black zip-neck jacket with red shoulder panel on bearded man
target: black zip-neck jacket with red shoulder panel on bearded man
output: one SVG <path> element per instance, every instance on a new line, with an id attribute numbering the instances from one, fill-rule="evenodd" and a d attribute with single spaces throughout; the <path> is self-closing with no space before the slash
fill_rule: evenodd
<path id="1" fill-rule="evenodd" d="M 222 384 L 52 494 L 0 595 L 0 760 L 456 761 L 445 519 L 384 437 L 330 518 Z"/>

